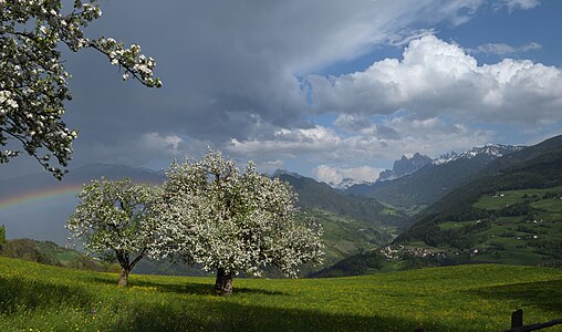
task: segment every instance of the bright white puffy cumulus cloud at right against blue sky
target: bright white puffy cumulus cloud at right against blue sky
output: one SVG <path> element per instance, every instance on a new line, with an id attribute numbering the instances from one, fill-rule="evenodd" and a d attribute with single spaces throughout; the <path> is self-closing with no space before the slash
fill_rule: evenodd
<path id="1" fill-rule="evenodd" d="M 533 126 L 559 120 L 562 108 L 560 69 L 513 59 L 479 65 L 459 45 L 434 35 L 413 40 L 402 60 L 306 80 L 319 113 L 388 115 L 406 110 L 420 120 Z"/>

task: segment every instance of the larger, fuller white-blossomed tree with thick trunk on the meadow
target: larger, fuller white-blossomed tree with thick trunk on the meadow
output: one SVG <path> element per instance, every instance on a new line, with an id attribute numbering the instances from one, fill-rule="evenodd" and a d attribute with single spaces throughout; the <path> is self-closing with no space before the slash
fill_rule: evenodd
<path id="1" fill-rule="evenodd" d="M 240 174 L 210 151 L 200 162 L 171 164 L 166 175 L 153 252 L 216 270 L 219 294 L 232 293 L 240 271 L 260 276 L 277 266 L 296 277 L 298 266 L 321 261 L 321 229 L 298 222 L 289 185 L 257 173 L 252 163 Z"/>

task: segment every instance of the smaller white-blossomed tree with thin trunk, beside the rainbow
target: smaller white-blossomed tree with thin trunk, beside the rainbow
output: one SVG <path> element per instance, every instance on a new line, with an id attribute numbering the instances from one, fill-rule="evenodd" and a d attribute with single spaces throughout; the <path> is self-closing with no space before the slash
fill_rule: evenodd
<path id="1" fill-rule="evenodd" d="M 129 179 L 93 180 L 79 195 L 80 203 L 66 228 L 82 239 L 90 253 L 116 259 L 121 266 L 119 286 L 154 245 L 154 209 L 160 189 L 134 185 Z"/>

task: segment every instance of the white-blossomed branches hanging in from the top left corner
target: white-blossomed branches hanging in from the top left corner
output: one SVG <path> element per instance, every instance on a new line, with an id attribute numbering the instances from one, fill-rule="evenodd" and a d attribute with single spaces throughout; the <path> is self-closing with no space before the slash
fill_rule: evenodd
<path id="1" fill-rule="evenodd" d="M 124 46 L 112 38 L 89 39 L 83 29 L 102 15 L 97 0 L 74 0 L 69 13 L 61 0 L 0 0 L 0 164 L 21 152 L 21 144 L 48 172 L 61 179 L 72 157 L 76 132 L 62 121 L 64 101 L 71 100 L 70 74 L 60 44 L 71 51 L 95 49 L 123 71 L 123 79 L 159 87 L 155 61 L 136 44 Z M 14 142 L 14 143 L 10 143 Z M 19 142 L 19 143 L 18 143 Z M 10 143 L 10 144 L 9 144 Z M 56 158 L 55 166 L 50 162 Z"/>

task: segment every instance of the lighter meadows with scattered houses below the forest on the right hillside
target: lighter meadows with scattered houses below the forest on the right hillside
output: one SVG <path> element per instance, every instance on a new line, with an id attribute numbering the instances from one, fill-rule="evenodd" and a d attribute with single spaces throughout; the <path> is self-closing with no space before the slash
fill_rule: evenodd
<path id="1" fill-rule="evenodd" d="M 482 195 L 471 217 L 449 215 L 420 229 L 402 235 L 393 247 L 439 253 L 426 259 L 440 264 L 562 266 L 562 187 Z"/>

